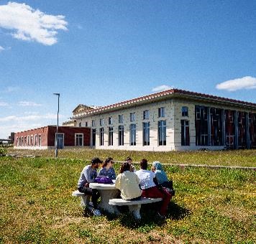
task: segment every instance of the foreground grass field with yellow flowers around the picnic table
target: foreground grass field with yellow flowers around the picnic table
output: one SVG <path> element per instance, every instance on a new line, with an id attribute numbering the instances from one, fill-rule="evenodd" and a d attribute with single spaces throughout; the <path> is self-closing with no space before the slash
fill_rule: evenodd
<path id="1" fill-rule="evenodd" d="M 63 154 L 69 159 L 0 157 L 0 243 L 256 243 L 255 171 L 165 166 L 176 190 L 167 220 L 143 207 L 135 222 L 84 212 L 71 192 L 85 165 L 78 158 L 88 155 Z"/>

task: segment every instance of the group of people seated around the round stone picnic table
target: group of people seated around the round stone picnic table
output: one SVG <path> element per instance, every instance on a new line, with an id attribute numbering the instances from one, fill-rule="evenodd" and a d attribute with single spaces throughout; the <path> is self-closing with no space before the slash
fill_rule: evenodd
<path id="1" fill-rule="evenodd" d="M 100 164 L 101 169 L 97 172 Z M 97 200 L 100 195 L 98 190 L 91 189 L 89 184 L 95 182 L 96 177 L 104 176 L 109 179 L 115 179 L 115 187 L 120 190 L 121 197 L 124 200 L 140 200 L 141 197 L 162 198 L 163 201 L 157 210 L 157 215 L 165 217 L 174 191 L 160 162 L 153 162 L 151 170 L 147 170 L 147 159 L 142 159 L 140 161 L 140 170 L 136 171 L 132 164 L 132 159 L 127 157 L 117 177 L 113 164 L 114 161 L 111 157 L 107 158 L 104 162 L 99 158 L 93 158 L 91 164 L 85 166 L 81 172 L 81 177 L 78 180 L 78 191 L 91 195 L 93 215 L 101 215 L 97 208 Z"/>

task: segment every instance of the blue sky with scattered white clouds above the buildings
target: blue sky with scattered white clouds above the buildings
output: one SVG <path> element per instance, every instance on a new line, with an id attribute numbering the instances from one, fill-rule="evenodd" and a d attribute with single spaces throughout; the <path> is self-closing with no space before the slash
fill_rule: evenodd
<path id="1" fill-rule="evenodd" d="M 256 1 L 0 0 L 0 139 L 178 88 L 256 103 Z"/>

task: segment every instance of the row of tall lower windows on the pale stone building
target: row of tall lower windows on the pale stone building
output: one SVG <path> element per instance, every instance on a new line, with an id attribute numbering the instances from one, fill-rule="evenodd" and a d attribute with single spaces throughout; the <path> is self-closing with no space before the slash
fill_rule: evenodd
<path id="1" fill-rule="evenodd" d="M 189 121 L 181 120 L 181 146 L 189 146 Z M 150 146 L 150 122 L 142 123 L 142 145 Z M 114 144 L 114 129 L 112 126 L 108 128 L 108 146 Z M 157 126 L 158 146 L 166 146 L 166 121 L 158 121 Z M 104 128 L 99 128 L 99 146 L 104 146 Z M 136 124 L 129 125 L 129 145 L 136 146 Z M 96 128 L 92 129 L 92 146 L 96 146 Z M 118 146 L 124 146 L 124 126 L 118 126 Z"/>

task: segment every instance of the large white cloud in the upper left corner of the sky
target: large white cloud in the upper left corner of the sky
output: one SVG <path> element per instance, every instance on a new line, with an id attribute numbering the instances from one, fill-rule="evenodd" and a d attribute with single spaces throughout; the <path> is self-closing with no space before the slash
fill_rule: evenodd
<path id="1" fill-rule="evenodd" d="M 52 45 L 57 42 L 57 30 L 67 30 L 67 24 L 63 15 L 45 14 L 27 4 L 0 5 L 0 27 L 14 30 L 16 39 Z"/>

